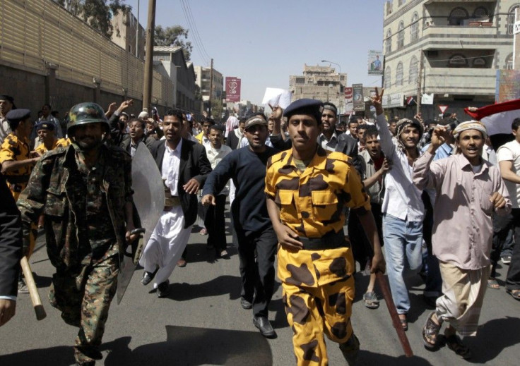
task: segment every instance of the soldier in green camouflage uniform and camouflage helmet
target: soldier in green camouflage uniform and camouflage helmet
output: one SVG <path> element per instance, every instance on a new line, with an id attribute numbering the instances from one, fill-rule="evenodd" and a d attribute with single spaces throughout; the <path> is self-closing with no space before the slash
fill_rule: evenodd
<path id="1" fill-rule="evenodd" d="M 56 267 L 49 300 L 67 324 L 80 329 L 78 365 L 95 365 L 122 252 L 135 239 L 131 158 L 103 144 L 109 125 L 98 104 L 73 106 L 69 117 L 72 145 L 42 157 L 18 208 L 24 234 L 45 215 L 47 253 Z"/>

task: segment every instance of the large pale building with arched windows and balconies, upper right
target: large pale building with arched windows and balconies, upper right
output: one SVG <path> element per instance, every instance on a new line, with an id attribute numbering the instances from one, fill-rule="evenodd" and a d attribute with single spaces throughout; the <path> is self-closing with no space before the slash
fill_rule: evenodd
<path id="1" fill-rule="evenodd" d="M 413 116 L 407 107 L 423 93 L 426 118 L 438 106 L 463 114 L 466 106 L 495 102 L 497 70 L 513 67 L 514 9 L 519 0 L 391 0 L 384 4 L 386 109 Z M 420 85 L 419 85 L 420 84 Z M 420 86 L 420 90 L 419 90 Z"/>

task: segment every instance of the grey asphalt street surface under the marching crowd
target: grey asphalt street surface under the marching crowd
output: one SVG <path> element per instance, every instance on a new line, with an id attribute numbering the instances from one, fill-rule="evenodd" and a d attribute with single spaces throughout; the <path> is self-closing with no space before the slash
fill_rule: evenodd
<path id="1" fill-rule="evenodd" d="M 240 307 L 236 248 L 228 248 L 229 260 L 215 260 L 213 250 L 206 250 L 206 238 L 194 229 L 188 265 L 173 272 L 168 298 L 157 298 L 150 285 L 141 285 L 143 270 L 136 271 L 122 303 L 112 303 L 102 344 L 103 359 L 96 365 L 295 365 L 280 283 L 276 282 L 269 313 L 278 337 L 266 339 L 252 323 L 252 310 Z M 228 236 L 228 245 L 230 242 Z M 20 295 L 16 317 L 0 328 L 0 365 L 73 365 L 77 329 L 66 325 L 47 301 L 54 270 L 42 237 L 30 264 L 47 318 L 38 322 L 29 295 Z M 506 271 L 505 266 L 498 270 L 502 286 Z M 488 289 L 478 336 L 467 338 L 473 358 L 464 361 L 447 347 L 436 352 L 424 348 L 421 329 L 431 309 L 421 298 L 420 277 L 409 279 L 412 307 L 407 335 L 415 356 L 405 358 L 384 300 L 377 310 L 363 305 L 367 280 L 367 276 L 356 275 L 352 323 L 361 343 L 358 365 L 520 364 L 520 302 L 503 287 Z M 379 289 L 376 291 L 381 295 Z M 345 365 L 338 346 L 327 342 L 329 365 Z"/>

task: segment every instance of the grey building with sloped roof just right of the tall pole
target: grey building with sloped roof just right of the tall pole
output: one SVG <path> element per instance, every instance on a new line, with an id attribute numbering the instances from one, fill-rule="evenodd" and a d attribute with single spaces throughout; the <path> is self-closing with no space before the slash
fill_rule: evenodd
<path id="1" fill-rule="evenodd" d="M 199 102 L 195 97 L 195 72 L 193 63 L 186 62 L 182 47 L 153 47 L 153 68 L 173 82 L 173 106 L 199 113 Z M 154 87 L 154 84 L 152 84 Z"/>

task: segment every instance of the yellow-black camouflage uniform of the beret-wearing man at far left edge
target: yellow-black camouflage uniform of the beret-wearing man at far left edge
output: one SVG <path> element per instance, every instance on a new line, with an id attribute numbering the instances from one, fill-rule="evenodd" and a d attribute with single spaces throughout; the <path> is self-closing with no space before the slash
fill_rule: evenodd
<path id="1" fill-rule="evenodd" d="M 29 140 L 27 138 L 20 139 L 14 133 L 7 135 L 6 140 L 2 142 L 0 150 L 0 164 L 4 161 L 20 161 L 31 159 Z M 22 166 L 5 173 L 7 185 L 11 193 L 13 193 L 14 200 L 18 200 L 20 192 L 25 188 L 29 181 L 32 164 Z"/>

